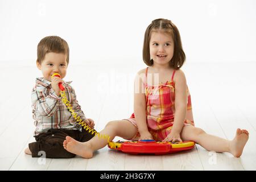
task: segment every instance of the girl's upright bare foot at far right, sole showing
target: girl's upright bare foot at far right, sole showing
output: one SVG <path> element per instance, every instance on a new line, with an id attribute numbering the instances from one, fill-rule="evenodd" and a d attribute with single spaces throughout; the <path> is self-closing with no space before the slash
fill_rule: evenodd
<path id="1" fill-rule="evenodd" d="M 239 158 L 248 139 L 249 132 L 247 130 L 237 129 L 236 137 L 230 143 L 230 153 Z"/>

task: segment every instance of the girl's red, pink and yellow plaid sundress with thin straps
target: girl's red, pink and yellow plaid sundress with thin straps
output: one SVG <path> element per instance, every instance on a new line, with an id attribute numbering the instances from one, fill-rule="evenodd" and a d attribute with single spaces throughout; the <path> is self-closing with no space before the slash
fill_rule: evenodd
<path id="1" fill-rule="evenodd" d="M 144 93 L 146 95 L 146 119 L 148 131 L 156 141 L 162 141 L 171 133 L 172 125 L 174 124 L 175 117 L 175 82 L 174 74 L 172 73 L 171 81 L 161 83 L 159 85 L 148 86 L 147 85 L 147 70 L 146 68 L 146 79 L 144 80 Z M 187 113 L 184 121 L 184 126 L 194 125 L 191 96 L 187 86 Z M 133 123 L 137 127 L 134 113 L 130 118 L 126 119 Z M 131 138 L 131 140 L 138 140 L 140 137 L 139 132 Z"/>

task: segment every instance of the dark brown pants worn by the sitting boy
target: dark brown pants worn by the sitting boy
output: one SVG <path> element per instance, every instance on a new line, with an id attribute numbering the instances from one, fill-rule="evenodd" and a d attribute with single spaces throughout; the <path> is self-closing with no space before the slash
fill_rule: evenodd
<path id="1" fill-rule="evenodd" d="M 69 136 L 79 142 L 86 142 L 94 137 L 88 131 L 65 130 L 65 129 L 49 129 L 47 133 L 40 133 L 35 136 L 36 142 L 28 144 L 32 153 L 32 158 L 39 158 L 42 152 L 45 152 L 46 158 L 73 158 L 76 155 L 68 152 L 63 147 L 63 141 Z"/>

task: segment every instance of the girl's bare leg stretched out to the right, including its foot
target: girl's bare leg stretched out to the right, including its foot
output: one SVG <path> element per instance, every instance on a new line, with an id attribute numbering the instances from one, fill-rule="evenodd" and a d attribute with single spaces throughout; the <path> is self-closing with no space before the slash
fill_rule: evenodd
<path id="1" fill-rule="evenodd" d="M 180 135 L 182 140 L 192 140 L 208 151 L 229 152 L 237 158 L 242 155 L 243 147 L 249 138 L 249 133 L 246 130 L 237 129 L 236 137 L 233 140 L 226 140 L 209 135 L 194 126 L 184 126 Z"/>

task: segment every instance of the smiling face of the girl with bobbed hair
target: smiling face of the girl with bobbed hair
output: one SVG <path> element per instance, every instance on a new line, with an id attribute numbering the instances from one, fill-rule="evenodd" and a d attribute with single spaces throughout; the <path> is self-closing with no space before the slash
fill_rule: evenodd
<path id="1" fill-rule="evenodd" d="M 169 65 L 174 56 L 174 40 L 166 32 L 151 32 L 150 57 L 155 65 Z"/>

